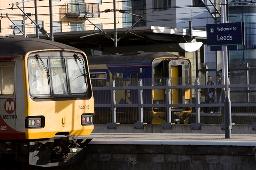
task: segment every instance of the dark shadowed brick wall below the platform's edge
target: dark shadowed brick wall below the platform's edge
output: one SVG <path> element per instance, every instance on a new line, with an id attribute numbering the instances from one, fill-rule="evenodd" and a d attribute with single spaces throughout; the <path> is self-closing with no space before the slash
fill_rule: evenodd
<path id="1" fill-rule="evenodd" d="M 88 145 L 86 170 L 256 170 L 254 147 Z"/>

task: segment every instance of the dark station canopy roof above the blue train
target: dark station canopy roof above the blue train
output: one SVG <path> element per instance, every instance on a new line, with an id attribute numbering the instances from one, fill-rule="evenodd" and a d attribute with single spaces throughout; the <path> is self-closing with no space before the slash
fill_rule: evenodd
<path id="1" fill-rule="evenodd" d="M 117 47 L 114 43 L 114 29 L 88 31 L 70 31 L 54 33 L 54 41 L 76 47 L 78 49 L 109 51 L 110 53 L 125 53 L 134 51 L 146 52 L 184 52 L 184 47 L 200 42 L 206 44 L 206 31 L 159 26 L 134 27 L 133 29 L 116 29 Z M 190 35 L 192 32 L 192 35 Z M 48 33 L 50 34 L 50 33 Z M 90 36 L 88 36 L 90 35 Z M 20 36 L 20 35 L 19 35 Z M 28 37 L 36 37 L 35 34 Z M 81 38 L 83 37 L 83 38 Z M 122 37 L 122 38 L 120 38 Z M 39 34 L 39 38 L 49 39 Z M 179 43 L 181 43 L 179 45 Z M 183 47 L 182 47 L 183 46 Z"/>

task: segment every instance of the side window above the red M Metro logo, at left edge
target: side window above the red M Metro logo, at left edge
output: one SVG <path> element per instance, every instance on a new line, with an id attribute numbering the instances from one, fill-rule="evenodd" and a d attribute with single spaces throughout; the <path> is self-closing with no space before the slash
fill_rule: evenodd
<path id="1" fill-rule="evenodd" d="M 14 63 L 0 62 L 0 95 L 14 94 Z"/>

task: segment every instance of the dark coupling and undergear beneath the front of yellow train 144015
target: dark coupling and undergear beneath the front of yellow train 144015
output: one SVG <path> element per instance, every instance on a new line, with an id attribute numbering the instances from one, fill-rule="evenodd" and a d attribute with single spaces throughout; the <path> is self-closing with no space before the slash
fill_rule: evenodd
<path id="1" fill-rule="evenodd" d="M 85 147 L 91 140 L 64 136 L 48 141 L 30 142 L 29 164 L 42 167 L 75 164 L 85 159 Z"/>

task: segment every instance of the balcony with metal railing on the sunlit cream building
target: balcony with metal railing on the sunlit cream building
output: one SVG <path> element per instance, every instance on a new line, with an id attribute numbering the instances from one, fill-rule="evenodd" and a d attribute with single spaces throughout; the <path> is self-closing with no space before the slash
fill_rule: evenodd
<path id="1" fill-rule="evenodd" d="M 99 4 L 86 4 L 85 2 L 68 2 L 66 4 L 67 18 L 78 18 L 81 16 L 86 18 L 99 18 Z"/>

